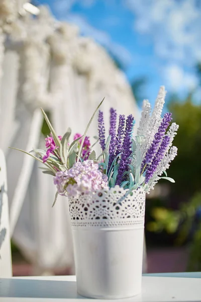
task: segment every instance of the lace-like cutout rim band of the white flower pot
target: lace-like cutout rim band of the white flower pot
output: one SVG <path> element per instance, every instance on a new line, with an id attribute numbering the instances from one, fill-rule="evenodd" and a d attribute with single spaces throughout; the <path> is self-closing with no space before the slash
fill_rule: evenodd
<path id="1" fill-rule="evenodd" d="M 123 201 L 127 190 L 116 186 L 69 198 L 72 226 L 128 226 L 144 225 L 145 192 L 134 190 Z"/>

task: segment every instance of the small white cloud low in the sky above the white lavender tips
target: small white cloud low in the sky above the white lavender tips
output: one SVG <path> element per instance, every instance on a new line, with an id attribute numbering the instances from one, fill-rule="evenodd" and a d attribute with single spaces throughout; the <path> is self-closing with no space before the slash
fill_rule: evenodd
<path id="1" fill-rule="evenodd" d="M 196 88 L 198 80 L 194 74 L 186 72 L 182 67 L 172 64 L 164 69 L 166 83 L 172 91 L 192 91 Z"/>

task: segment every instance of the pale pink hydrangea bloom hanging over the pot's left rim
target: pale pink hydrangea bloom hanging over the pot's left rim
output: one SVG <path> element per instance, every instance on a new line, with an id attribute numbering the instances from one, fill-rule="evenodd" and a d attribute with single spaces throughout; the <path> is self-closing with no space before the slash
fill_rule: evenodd
<path id="1" fill-rule="evenodd" d="M 81 193 L 108 188 L 108 178 L 91 160 L 78 162 L 68 171 L 59 171 L 54 177 L 54 184 L 61 195 L 77 197 Z"/>

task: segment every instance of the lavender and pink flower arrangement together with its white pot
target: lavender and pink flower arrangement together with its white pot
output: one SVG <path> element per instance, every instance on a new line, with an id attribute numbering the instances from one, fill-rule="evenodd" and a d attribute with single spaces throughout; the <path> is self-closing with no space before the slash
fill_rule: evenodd
<path id="1" fill-rule="evenodd" d="M 141 120 L 134 136 L 132 115 L 110 110 L 106 137 L 104 114 L 98 113 L 98 137 L 90 146 L 86 136 L 70 140 L 71 130 L 57 136 L 42 110 L 51 135 L 46 150 L 27 153 L 43 163 L 43 173 L 53 176 L 58 194 L 68 197 L 73 234 L 77 290 L 81 295 L 124 298 L 141 291 L 145 194 L 153 189 L 177 154 L 172 146 L 178 125 L 171 114 L 161 117 L 165 99 L 160 88 L 155 106 L 143 102 Z M 93 146 L 102 149 L 96 156 Z M 23 150 L 21 150 L 23 151 Z M 23 151 L 24 152 L 24 151 Z M 38 155 L 34 156 L 32 153 Z M 162 176 L 164 174 L 164 176 Z"/>

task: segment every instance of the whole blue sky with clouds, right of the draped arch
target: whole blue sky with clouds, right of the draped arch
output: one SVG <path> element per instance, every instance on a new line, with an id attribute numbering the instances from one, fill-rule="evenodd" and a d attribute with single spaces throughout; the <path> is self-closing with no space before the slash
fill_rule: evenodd
<path id="1" fill-rule="evenodd" d="M 79 26 L 124 66 L 130 82 L 147 79 L 142 97 L 154 101 L 160 85 L 184 97 L 201 91 L 200 0 L 40 0 L 54 16 Z"/>

